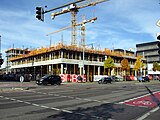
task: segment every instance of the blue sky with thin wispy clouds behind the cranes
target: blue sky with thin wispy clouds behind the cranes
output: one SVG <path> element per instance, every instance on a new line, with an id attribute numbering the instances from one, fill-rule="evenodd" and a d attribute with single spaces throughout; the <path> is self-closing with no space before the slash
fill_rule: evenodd
<path id="1" fill-rule="evenodd" d="M 36 6 L 47 6 L 45 10 L 76 0 L 1 0 L 0 35 L 2 54 L 10 47 L 47 47 L 63 40 L 71 43 L 71 29 L 50 36 L 46 34 L 71 25 L 71 14 L 66 13 L 51 19 L 45 14 L 45 22 L 35 18 Z M 88 0 L 86 0 L 88 1 Z M 90 0 L 93 1 L 93 0 Z M 95 1 L 95 0 L 94 0 Z M 80 4 L 77 4 L 80 5 Z M 61 10 L 61 9 L 59 9 Z M 109 0 L 94 7 L 80 9 L 77 22 L 93 17 L 94 23 L 86 24 L 86 44 L 94 43 L 96 48 L 135 48 L 136 44 L 156 40 L 160 28 L 156 22 L 160 18 L 159 0 Z M 80 28 L 77 28 L 77 43 L 80 41 Z"/>

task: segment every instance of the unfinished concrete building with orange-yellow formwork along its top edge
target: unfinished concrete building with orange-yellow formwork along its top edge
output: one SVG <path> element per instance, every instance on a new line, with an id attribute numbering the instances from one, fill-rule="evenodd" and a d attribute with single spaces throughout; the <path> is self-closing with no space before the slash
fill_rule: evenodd
<path id="1" fill-rule="evenodd" d="M 128 74 L 134 74 L 133 67 L 137 59 L 134 52 L 124 52 L 119 49 L 96 50 L 59 43 L 49 48 L 31 50 L 27 54 L 12 57 L 9 61 L 12 63 L 10 68 L 14 73 L 31 73 L 41 76 L 44 74 L 84 74 L 88 81 L 92 81 L 94 75 L 106 74 L 104 73 L 104 61 L 109 56 L 115 64 L 111 71 L 112 75 L 122 75 L 120 63 L 124 58 L 130 65 Z"/>

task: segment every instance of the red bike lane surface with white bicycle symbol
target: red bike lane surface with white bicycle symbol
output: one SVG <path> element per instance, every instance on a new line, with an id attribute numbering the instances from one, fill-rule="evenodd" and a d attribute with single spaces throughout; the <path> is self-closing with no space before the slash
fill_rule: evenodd
<path id="1" fill-rule="evenodd" d="M 129 99 L 124 102 L 120 102 L 120 104 L 154 108 L 160 104 L 160 91 L 153 92 L 152 94 L 146 94 L 137 98 Z"/>

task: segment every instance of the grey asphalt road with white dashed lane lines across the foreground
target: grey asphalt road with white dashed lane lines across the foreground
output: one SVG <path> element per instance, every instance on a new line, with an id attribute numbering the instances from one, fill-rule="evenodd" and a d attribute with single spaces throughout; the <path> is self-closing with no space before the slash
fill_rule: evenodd
<path id="1" fill-rule="evenodd" d="M 30 82 L 24 83 L 22 87 L 16 82 L 0 82 L 0 88 L 1 120 L 159 120 L 160 118 L 159 93 L 157 96 L 154 94 L 160 90 L 160 82 L 65 83 L 60 86 L 37 86 L 34 82 Z M 139 99 L 146 94 L 152 95 L 151 97 L 157 100 L 156 106 L 151 108 L 147 104 L 146 106 L 126 104 L 126 101 Z"/>

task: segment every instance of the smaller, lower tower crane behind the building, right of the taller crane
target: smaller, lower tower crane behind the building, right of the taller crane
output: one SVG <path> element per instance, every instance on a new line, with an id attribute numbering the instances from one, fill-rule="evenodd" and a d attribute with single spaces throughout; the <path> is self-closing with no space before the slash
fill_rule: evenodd
<path id="1" fill-rule="evenodd" d="M 97 20 L 97 17 L 93 17 L 93 18 L 90 19 L 90 20 L 86 20 L 86 19 L 85 19 L 85 16 L 82 15 L 82 22 L 79 22 L 79 23 L 75 24 L 75 26 L 81 26 L 81 36 L 82 36 L 82 38 L 81 38 L 81 44 L 82 44 L 83 46 L 85 46 L 85 24 L 86 24 L 86 23 L 89 23 L 89 22 L 92 22 L 92 23 L 93 23 L 95 20 Z M 61 28 L 61 29 L 59 29 L 59 30 L 56 30 L 56 31 L 54 31 L 54 32 L 51 32 L 51 33 L 46 34 L 46 36 L 49 36 L 49 35 L 51 35 L 51 34 L 55 34 L 55 33 L 61 32 L 61 31 L 63 31 L 63 30 L 66 30 L 66 29 L 69 29 L 69 28 L 72 28 L 72 27 L 73 27 L 73 26 L 67 26 L 67 27 Z"/>

